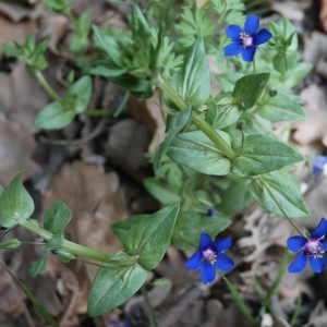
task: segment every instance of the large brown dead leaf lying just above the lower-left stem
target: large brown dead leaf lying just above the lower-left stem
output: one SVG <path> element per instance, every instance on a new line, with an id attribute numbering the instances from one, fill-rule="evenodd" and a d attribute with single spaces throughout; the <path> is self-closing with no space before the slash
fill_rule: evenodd
<path id="1" fill-rule="evenodd" d="M 124 197 L 114 172 L 106 174 L 102 168 L 80 161 L 66 164 L 44 195 L 44 209 L 57 198 L 73 211 L 66 231 L 74 242 L 107 253 L 122 249 L 111 231 L 112 223 L 126 218 Z M 97 267 L 87 266 L 90 280 L 96 270 Z"/>

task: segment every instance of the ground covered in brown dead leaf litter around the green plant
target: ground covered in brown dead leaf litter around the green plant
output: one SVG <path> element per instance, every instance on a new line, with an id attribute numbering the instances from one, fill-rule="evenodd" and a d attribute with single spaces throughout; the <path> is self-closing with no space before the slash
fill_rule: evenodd
<path id="1" fill-rule="evenodd" d="M 109 2 L 109 1 L 108 1 Z M 303 155 L 326 154 L 327 147 L 327 1 L 271 1 L 266 3 L 263 22 L 284 14 L 300 33 L 301 59 L 312 62 L 312 73 L 298 87 L 308 120 L 291 123 L 286 135 Z M 125 27 L 125 7 L 105 1 L 75 1 L 73 12 L 88 11 L 93 23 Z M 37 17 L 43 16 L 43 20 Z M 38 38 L 51 36 L 46 76 L 62 94 L 64 76 L 73 60 L 64 53 L 71 25 L 66 17 L 49 13 L 43 5 L 23 7 L 0 2 L 0 41 L 23 41 L 28 33 Z M 80 117 L 59 132 L 40 131 L 34 125 L 37 112 L 49 99 L 37 81 L 25 73 L 24 63 L 7 58 L 0 50 L 0 184 L 5 186 L 14 173 L 25 169 L 25 186 L 36 202 L 34 218 L 56 198 L 64 201 L 73 211 L 66 238 L 83 245 L 113 253 L 122 249 L 110 225 L 131 215 L 153 213 L 160 208 L 142 185 L 153 174 L 143 154 L 153 150 L 162 138 L 165 126 L 156 106 L 130 100 L 119 118 Z M 94 78 L 92 104 L 105 110 L 117 108 L 123 94 L 102 78 Z M 277 126 L 278 128 L 278 126 Z M 304 195 L 312 218 L 301 220 L 300 228 L 313 229 L 327 215 L 327 179 L 313 179 L 308 168 L 299 166 L 296 174 L 307 189 Z M 284 253 L 290 227 L 280 217 L 253 206 L 242 219 L 235 217 L 232 229 L 234 245 L 231 255 L 237 263 L 229 279 L 256 310 L 262 298 L 254 286 L 257 280 L 269 287 L 275 280 Z M 24 241 L 35 238 L 22 229 L 8 237 Z M 62 327 L 118 326 L 129 319 L 131 326 L 149 326 L 143 298 L 133 296 L 124 306 L 99 318 L 86 315 L 87 296 L 96 267 L 84 263 L 64 265 L 49 257 L 46 272 L 28 276 L 40 247 L 25 245 L 16 251 L 1 251 L 0 257 L 31 289 Z M 226 284 L 217 279 L 204 287 L 199 275 L 184 267 L 186 255 L 173 247 L 155 269 L 154 277 L 168 277 L 169 283 L 149 290 L 159 326 L 251 326 L 242 317 Z M 291 259 L 291 258 L 290 258 Z M 327 270 L 314 275 L 284 274 L 271 305 L 279 318 L 274 326 L 289 326 L 299 295 L 302 304 L 293 326 L 326 326 Z M 114 320 L 118 319 L 118 320 Z M 266 316 L 269 325 L 269 316 Z M 123 324 L 123 323 L 122 323 Z M 263 323 L 264 324 L 264 323 Z M 0 326 L 46 326 L 11 277 L 0 271 Z M 121 325 L 123 326 L 123 325 Z"/>

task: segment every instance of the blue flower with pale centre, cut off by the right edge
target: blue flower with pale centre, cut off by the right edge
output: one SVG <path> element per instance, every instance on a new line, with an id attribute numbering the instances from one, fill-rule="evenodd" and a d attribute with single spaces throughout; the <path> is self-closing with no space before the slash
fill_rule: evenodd
<path id="1" fill-rule="evenodd" d="M 289 266 L 289 272 L 301 272 L 310 261 L 311 267 L 315 272 L 322 272 L 327 262 L 324 252 L 327 250 L 327 220 L 322 218 L 318 227 L 310 235 L 304 238 L 301 235 L 289 238 L 287 243 L 292 252 L 299 252 L 298 257 Z"/>

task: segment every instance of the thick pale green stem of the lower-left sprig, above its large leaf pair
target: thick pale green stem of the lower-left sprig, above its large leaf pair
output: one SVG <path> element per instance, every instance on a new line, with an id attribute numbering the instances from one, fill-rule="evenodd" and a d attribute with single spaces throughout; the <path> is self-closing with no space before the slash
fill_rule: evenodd
<path id="1" fill-rule="evenodd" d="M 22 220 L 19 222 L 19 225 L 21 227 L 24 227 L 24 228 L 31 230 L 32 232 L 36 233 L 37 235 L 39 235 L 40 238 L 43 238 L 47 241 L 49 241 L 53 237 L 52 233 L 48 232 L 47 230 L 36 226 L 35 223 L 33 223 L 28 220 Z M 108 253 L 100 252 L 97 250 L 92 250 L 86 246 L 83 246 L 83 245 L 73 243 L 71 241 L 66 241 L 66 240 L 63 241 L 61 249 L 71 251 L 72 253 L 83 256 L 85 258 L 94 259 L 94 261 L 101 262 L 101 263 L 109 263 L 112 257 L 112 255 L 110 255 Z"/>

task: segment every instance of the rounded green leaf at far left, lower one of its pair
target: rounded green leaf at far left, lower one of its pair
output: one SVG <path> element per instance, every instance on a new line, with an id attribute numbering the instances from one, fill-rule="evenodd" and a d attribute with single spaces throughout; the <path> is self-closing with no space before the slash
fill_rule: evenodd
<path id="1" fill-rule="evenodd" d="M 60 130 L 68 126 L 74 118 L 73 110 L 64 109 L 59 102 L 51 102 L 37 114 L 35 124 L 44 130 Z"/>

